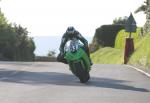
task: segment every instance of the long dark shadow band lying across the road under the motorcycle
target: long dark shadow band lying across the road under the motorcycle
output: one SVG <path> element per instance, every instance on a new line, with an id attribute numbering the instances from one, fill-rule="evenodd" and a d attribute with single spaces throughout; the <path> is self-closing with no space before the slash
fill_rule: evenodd
<path id="1" fill-rule="evenodd" d="M 2 74 L 12 74 L 16 71 L 0 70 L 0 75 Z M 84 87 L 101 87 L 101 88 L 112 88 L 121 90 L 131 90 L 139 92 L 149 92 L 145 88 L 137 88 L 134 86 L 128 86 L 127 82 L 124 80 L 115 80 L 111 78 L 99 78 L 91 77 L 90 81 L 86 84 L 79 82 L 78 78 L 73 75 L 58 73 L 58 72 L 28 72 L 28 71 L 17 71 L 15 75 L 3 75 L 5 78 L 1 79 L 0 82 L 10 82 L 10 83 L 21 83 L 27 85 L 65 85 L 65 86 L 84 86 Z"/>

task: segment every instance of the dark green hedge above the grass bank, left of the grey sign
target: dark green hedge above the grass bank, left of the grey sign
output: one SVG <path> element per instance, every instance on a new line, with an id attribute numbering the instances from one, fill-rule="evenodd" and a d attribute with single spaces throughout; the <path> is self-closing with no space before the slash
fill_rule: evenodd
<path id="1" fill-rule="evenodd" d="M 102 47 L 114 47 L 116 35 L 124 29 L 126 21 L 126 16 L 119 17 L 113 20 L 113 24 L 97 28 L 92 43 L 89 45 L 90 52 L 93 53 Z"/>

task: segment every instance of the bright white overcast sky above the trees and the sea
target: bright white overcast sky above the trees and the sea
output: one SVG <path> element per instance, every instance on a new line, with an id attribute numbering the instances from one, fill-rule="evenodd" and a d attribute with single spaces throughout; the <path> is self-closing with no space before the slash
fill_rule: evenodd
<path id="1" fill-rule="evenodd" d="M 10 23 L 27 28 L 30 36 L 62 36 L 74 26 L 83 36 L 94 36 L 95 29 L 115 18 L 129 16 L 138 26 L 146 17 L 134 11 L 145 0 L 2 0 L 1 11 Z"/>

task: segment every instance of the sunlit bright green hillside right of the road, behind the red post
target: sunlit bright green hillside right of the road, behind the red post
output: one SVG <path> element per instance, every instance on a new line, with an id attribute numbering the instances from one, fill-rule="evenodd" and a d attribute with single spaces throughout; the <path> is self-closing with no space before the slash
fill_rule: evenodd
<path id="1" fill-rule="evenodd" d="M 114 48 L 101 48 L 91 54 L 93 62 L 100 64 L 122 64 L 126 37 L 128 37 L 128 33 L 121 30 L 117 34 Z M 142 36 L 140 28 L 138 28 L 137 32 L 132 34 L 132 37 L 134 38 L 135 52 L 131 55 L 128 64 L 148 70 L 150 68 L 150 35 Z"/>

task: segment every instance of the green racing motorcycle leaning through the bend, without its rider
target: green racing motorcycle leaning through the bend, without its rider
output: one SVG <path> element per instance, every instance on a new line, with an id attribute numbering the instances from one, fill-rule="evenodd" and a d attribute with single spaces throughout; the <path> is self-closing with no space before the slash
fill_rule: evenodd
<path id="1" fill-rule="evenodd" d="M 90 61 L 84 47 L 77 39 L 71 40 L 70 45 L 65 47 L 65 56 L 70 70 L 80 79 L 81 83 L 86 83 L 90 79 Z"/>

